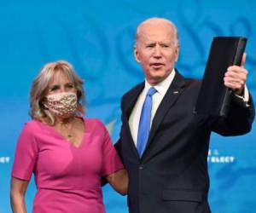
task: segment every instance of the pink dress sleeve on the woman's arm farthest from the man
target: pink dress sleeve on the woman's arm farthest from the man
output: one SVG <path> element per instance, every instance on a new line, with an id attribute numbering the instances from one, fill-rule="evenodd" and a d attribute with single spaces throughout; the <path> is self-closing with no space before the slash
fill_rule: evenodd
<path id="1" fill-rule="evenodd" d="M 33 136 L 32 122 L 25 124 L 20 133 L 16 151 L 12 176 L 29 181 L 38 156 L 38 144 Z"/>

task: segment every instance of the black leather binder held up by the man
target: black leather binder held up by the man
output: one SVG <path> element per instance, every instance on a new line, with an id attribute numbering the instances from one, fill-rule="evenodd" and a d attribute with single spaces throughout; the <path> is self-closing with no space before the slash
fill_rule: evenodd
<path id="1" fill-rule="evenodd" d="M 224 86 L 224 73 L 232 65 L 240 65 L 246 37 L 214 37 L 207 60 L 195 113 L 226 116 L 232 90 Z"/>

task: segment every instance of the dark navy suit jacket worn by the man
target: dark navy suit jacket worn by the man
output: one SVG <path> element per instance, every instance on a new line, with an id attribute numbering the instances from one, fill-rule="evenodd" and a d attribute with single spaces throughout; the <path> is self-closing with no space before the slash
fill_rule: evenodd
<path id="1" fill-rule="evenodd" d="M 142 158 L 131 137 L 129 117 L 144 82 L 121 101 L 122 127 L 115 147 L 129 174 L 130 213 L 207 213 L 209 177 L 207 153 L 212 131 L 242 135 L 251 130 L 254 108 L 235 95 L 227 118 L 194 112 L 201 81 L 177 71 L 155 113 Z"/>

